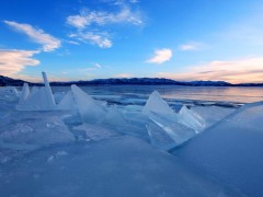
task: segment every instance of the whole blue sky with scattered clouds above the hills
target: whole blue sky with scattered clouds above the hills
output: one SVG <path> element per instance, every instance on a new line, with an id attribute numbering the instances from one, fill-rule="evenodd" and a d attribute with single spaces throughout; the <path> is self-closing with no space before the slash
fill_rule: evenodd
<path id="1" fill-rule="evenodd" d="M 0 76 L 263 82 L 262 0 L 0 1 Z"/>

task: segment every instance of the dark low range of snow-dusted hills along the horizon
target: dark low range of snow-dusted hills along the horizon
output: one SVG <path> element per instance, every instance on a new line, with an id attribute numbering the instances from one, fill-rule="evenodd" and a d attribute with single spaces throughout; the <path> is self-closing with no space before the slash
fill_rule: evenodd
<path id="1" fill-rule="evenodd" d="M 26 81 L 12 79 L 0 76 L 0 86 L 14 85 L 20 86 Z M 31 85 L 42 85 L 42 83 L 31 83 Z M 69 81 L 69 82 L 50 82 L 50 85 L 187 85 L 187 86 L 263 86 L 263 83 L 240 83 L 231 84 L 226 81 L 175 81 L 164 78 L 111 78 L 111 79 L 95 79 L 90 81 Z"/>

